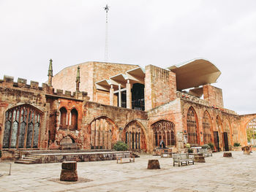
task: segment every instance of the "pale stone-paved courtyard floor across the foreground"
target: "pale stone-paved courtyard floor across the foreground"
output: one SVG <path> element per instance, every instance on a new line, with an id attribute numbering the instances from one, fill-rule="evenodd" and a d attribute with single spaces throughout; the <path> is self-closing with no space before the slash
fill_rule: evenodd
<path id="1" fill-rule="evenodd" d="M 205 164 L 173 167 L 172 158 L 140 155 L 135 163 L 116 161 L 78 163 L 76 183 L 59 182 L 61 164 L 0 164 L 0 191 L 256 191 L 256 152 L 233 158 L 214 153 Z M 148 159 L 161 169 L 148 170 Z"/>

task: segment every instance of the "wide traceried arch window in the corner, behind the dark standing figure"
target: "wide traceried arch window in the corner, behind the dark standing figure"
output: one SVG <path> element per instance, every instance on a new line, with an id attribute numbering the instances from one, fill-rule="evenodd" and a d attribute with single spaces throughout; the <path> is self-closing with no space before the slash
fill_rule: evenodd
<path id="1" fill-rule="evenodd" d="M 175 145 L 175 126 L 173 122 L 168 120 L 159 120 L 151 126 L 154 133 L 154 146 L 158 147 L 161 140 L 165 145 Z"/>

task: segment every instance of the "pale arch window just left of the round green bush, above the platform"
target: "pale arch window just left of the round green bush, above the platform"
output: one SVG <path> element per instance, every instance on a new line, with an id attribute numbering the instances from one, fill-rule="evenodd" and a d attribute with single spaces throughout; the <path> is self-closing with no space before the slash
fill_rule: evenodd
<path id="1" fill-rule="evenodd" d="M 100 117 L 91 122 L 91 148 L 111 149 L 116 140 L 116 128 L 113 121 Z"/>

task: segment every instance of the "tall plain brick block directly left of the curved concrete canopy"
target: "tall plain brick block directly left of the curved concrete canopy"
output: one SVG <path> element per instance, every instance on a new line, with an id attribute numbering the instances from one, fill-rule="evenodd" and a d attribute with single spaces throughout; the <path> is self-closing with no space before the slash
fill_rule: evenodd
<path id="1" fill-rule="evenodd" d="M 176 99 L 176 74 L 157 66 L 146 66 L 145 110 Z"/>

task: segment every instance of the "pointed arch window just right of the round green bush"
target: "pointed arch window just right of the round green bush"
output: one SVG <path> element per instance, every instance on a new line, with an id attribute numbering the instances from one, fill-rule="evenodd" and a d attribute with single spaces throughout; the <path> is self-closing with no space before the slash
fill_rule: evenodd
<path id="1" fill-rule="evenodd" d="M 133 120 L 128 123 L 124 128 L 123 135 L 124 134 L 125 143 L 127 143 L 130 150 L 146 150 L 146 137 L 137 121 Z"/>

